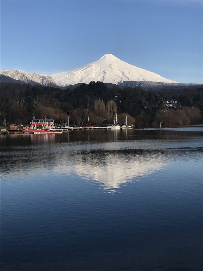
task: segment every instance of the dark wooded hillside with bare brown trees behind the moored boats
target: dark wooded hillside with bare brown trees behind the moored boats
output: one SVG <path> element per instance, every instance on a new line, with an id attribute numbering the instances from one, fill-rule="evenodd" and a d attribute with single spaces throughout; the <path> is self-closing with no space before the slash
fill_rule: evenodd
<path id="1" fill-rule="evenodd" d="M 164 107 L 163 99 L 176 99 L 176 107 Z M 119 124 L 150 126 L 203 123 L 203 88 L 162 89 L 147 91 L 140 87 L 107 87 L 103 82 L 81 84 L 74 89 L 41 85 L 1 83 L 1 123 L 28 125 L 32 118 L 50 118 L 63 125 L 86 125 L 89 111 L 91 124 L 113 123 L 117 112 Z"/>

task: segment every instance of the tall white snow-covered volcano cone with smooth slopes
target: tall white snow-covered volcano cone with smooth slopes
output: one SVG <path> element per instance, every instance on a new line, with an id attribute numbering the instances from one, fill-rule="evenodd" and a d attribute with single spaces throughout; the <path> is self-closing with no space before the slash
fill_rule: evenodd
<path id="1" fill-rule="evenodd" d="M 67 72 L 52 74 L 53 79 L 61 86 L 78 83 L 89 84 L 91 81 L 118 84 L 123 81 L 154 81 L 177 83 L 154 72 L 138 68 L 120 60 L 112 54 L 106 54 L 98 60 Z"/>

